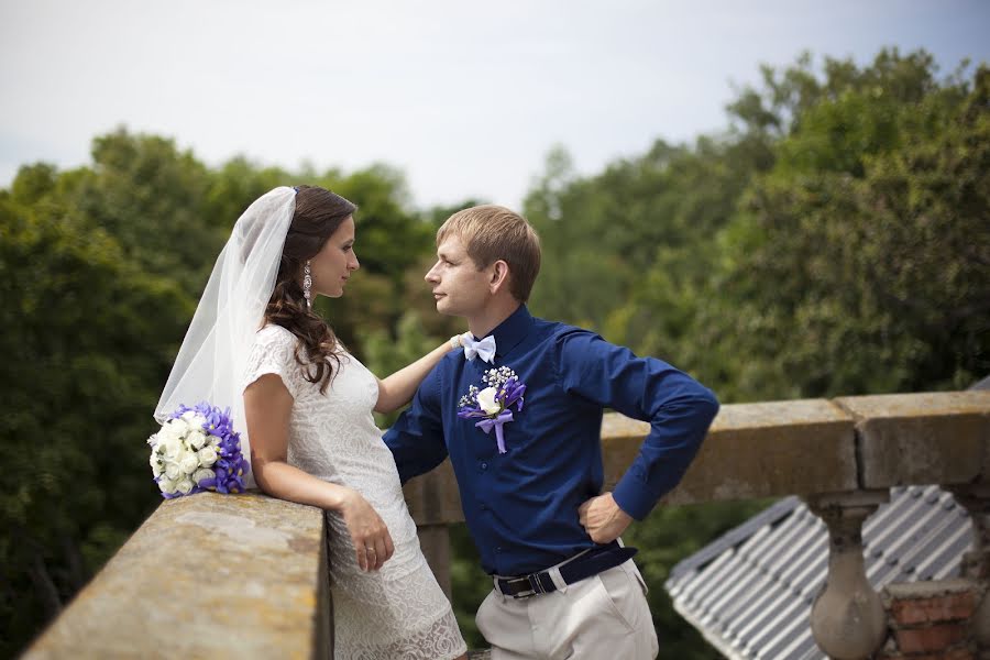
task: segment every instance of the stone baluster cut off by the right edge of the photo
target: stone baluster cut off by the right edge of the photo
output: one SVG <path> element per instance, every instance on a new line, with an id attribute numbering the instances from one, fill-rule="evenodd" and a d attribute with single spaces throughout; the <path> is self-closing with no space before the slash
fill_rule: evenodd
<path id="1" fill-rule="evenodd" d="M 972 632 L 980 658 L 990 659 L 990 484 L 949 488 L 972 519 L 972 550 L 963 556 L 963 578 L 976 582 L 982 600 L 972 617 Z"/>

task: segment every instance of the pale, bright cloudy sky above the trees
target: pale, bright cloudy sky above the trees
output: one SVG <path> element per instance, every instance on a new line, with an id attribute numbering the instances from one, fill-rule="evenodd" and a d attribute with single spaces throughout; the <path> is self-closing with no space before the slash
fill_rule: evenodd
<path id="1" fill-rule="evenodd" d="M 803 50 L 990 62 L 983 0 L 0 0 L 0 187 L 124 124 L 211 166 L 386 162 L 424 207 L 518 207 L 579 172 L 725 129 L 733 87 Z"/>

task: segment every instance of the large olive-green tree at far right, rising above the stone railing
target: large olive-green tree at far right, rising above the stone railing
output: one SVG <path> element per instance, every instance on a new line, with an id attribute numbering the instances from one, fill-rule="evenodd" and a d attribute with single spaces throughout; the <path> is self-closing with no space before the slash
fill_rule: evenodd
<path id="1" fill-rule="evenodd" d="M 722 237 L 698 337 L 746 355 L 738 398 L 960 388 L 990 366 L 987 68 L 936 85 L 878 63 L 889 78 L 799 116 Z"/>

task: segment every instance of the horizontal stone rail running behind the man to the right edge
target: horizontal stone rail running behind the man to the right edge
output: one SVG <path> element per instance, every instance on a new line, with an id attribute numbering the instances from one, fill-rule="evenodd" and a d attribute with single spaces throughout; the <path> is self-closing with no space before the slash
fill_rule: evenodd
<path id="1" fill-rule="evenodd" d="M 647 422 L 605 415 L 605 488 L 639 452 Z M 990 391 L 725 405 L 664 502 L 751 499 L 901 484 L 990 481 Z M 420 525 L 463 520 L 444 462 L 406 485 Z"/>

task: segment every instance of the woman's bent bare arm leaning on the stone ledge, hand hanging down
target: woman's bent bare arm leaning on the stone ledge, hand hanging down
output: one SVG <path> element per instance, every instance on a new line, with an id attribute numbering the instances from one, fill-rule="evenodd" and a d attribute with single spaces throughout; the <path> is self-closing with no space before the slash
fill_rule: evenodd
<path id="1" fill-rule="evenodd" d="M 244 417 L 251 439 L 251 469 L 258 487 L 279 499 L 340 512 L 362 570 L 382 568 L 395 552 L 385 521 L 360 493 L 289 465 L 288 428 L 293 396 L 275 374 L 244 389 Z"/>

